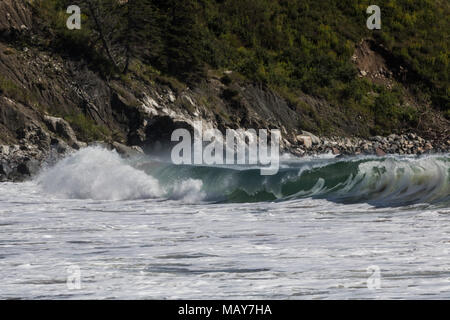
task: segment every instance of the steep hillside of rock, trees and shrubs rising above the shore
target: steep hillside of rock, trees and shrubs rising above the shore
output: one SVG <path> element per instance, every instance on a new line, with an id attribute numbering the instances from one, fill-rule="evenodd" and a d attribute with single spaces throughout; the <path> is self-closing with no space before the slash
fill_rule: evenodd
<path id="1" fill-rule="evenodd" d="M 72 4 L 81 30 L 66 27 Z M 279 128 L 287 149 L 303 130 L 445 145 L 449 2 L 379 1 L 373 31 L 368 5 L 2 0 L 0 144 L 151 149 L 201 118 L 221 130 Z"/>

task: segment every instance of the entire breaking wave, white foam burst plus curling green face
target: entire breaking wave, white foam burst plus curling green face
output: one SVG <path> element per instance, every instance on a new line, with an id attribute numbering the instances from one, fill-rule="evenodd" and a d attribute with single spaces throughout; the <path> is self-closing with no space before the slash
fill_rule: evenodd
<path id="1" fill-rule="evenodd" d="M 283 162 L 273 176 L 259 168 L 175 166 L 124 160 L 101 147 L 80 150 L 37 177 L 48 193 L 80 199 L 165 198 L 189 203 L 323 198 L 375 206 L 450 203 L 450 156 L 350 157 Z"/>

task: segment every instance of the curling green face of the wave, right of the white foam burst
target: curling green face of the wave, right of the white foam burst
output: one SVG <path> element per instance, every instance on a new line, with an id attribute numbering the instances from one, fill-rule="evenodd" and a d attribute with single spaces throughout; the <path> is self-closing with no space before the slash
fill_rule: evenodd
<path id="1" fill-rule="evenodd" d="M 211 202 L 287 201 L 323 198 L 342 203 L 367 202 L 375 206 L 430 203 L 448 206 L 450 156 L 418 158 L 353 157 L 295 160 L 282 163 L 273 176 L 258 168 L 141 164 L 168 190 L 180 181 L 200 180 L 204 200 Z"/>

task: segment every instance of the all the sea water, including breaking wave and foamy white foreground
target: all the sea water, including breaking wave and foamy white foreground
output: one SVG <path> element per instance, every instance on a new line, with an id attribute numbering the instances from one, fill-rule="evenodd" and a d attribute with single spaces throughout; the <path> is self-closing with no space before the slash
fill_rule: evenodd
<path id="1" fill-rule="evenodd" d="M 449 299 L 450 155 L 173 166 L 89 147 L 0 183 L 0 299 Z"/>

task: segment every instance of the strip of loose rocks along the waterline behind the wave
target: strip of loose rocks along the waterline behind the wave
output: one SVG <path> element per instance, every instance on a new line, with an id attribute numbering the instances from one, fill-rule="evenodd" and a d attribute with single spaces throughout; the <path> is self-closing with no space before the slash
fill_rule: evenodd
<path id="1" fill-rule="evenodd" d="M 63 140 L 52 141 L 49 146 L 32 144 L 21 140 L 20 144 L 0 145 L 0 182 L 22 182 L 37 174 L 44 165 L 52 165 L 66 155 L 88 146 L 79 142 L 67 144 Z M 335 155 L 346 156 L 386 156 L 386 155 L 427 155 L 450 153 L 450 139 L 447 141 L 426 140 L 414 133 L 391 134 L 387 137 L 374 136 L 369 139 L 357 137 L 318 137 L 307 131 L 296 136 L 296 141 L 283 141 L 280 153 L 293 156 L 314 157 Z M 110 150 L 116 150 L 123 157 L 144 154 L 138 146 L 126 146 L 118 142 L 95 142 Z"/>

